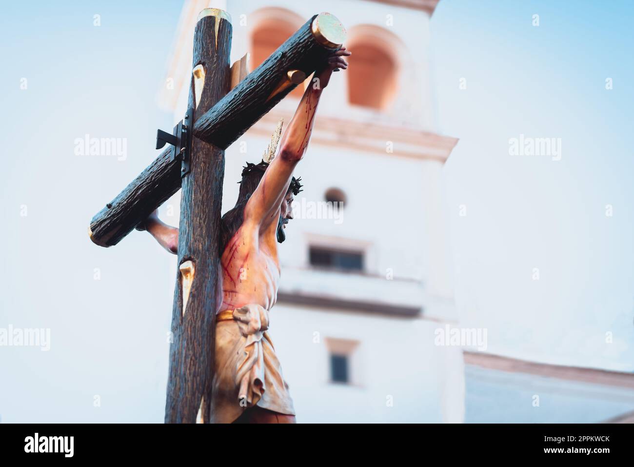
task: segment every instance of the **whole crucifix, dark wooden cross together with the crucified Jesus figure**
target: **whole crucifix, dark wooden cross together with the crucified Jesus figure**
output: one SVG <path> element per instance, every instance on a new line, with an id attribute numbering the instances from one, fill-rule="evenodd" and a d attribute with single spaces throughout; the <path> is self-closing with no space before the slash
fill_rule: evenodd
<path id="1" fill-rule="evenodd" d="M 231 18 L 207 8 L 194 32 L 184 118 L 158 132 L 157 159 L 91 221 L 99 246 L 134 228 L 178 254 L 172 312 L 166 423 L 294 422 L 295 411 L 267 332 L 280 279 L 277 242 L 285 239 L 292 176 L 311 135 L 317 103 L 333 71 L 346 69 L 346 32 L 329 13 L 314 15 L 250 74 L 229 65 Z M 247 162 L 235 207 L 221 216 L 224 150 L 314 72 L 281 137 L 262 161 Z M 156 209 L 181 188 L 179 228 Z"/>

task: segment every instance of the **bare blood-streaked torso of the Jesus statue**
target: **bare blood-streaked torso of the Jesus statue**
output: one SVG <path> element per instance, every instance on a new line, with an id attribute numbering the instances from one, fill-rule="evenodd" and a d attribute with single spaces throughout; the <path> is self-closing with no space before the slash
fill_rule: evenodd
<path id="1" fill-rule="evenodd" d="M 280 217 L 280 212 L 274 219 Z M 264 232 L 243 224 L 226 245 L 221 257 L 223 302 L 218 312 L 256 304 L 270 310 L 277 299 L 280 283 L 277 223 Z"/>

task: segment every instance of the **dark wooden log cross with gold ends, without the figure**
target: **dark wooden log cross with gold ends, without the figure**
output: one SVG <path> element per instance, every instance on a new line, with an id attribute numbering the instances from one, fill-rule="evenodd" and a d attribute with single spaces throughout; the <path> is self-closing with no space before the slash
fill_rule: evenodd
<path id="1" fill-rule="evenodd" d="M 183 121 L 172 135 L 159 130 L 157 149 L 165 143 L 169 147 L 93 217 L 89 228 L 95 244 L 116 245 L 182 189 L 166 423 L 209 421 L 215 319 L 222 297 L 224 150 L 339 49 L 346 37 L 335 16 L 314 15 L 246 75 L 244 58 L 229 66 L 231 31 L 231 18 L 223 10 L 207 8 L 198 15 Z"/>

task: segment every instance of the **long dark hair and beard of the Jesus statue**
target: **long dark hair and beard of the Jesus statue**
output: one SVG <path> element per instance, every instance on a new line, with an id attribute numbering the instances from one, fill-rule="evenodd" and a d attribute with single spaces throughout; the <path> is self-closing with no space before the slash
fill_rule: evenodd
<path id="1" fill-rule="evenodd" d="M 233 235 L 238 232 L 238 229 L 242 225 L 244 221 L 244 208 L 247 206 L 247 201 L 256 191 L 257 185 L 259 185 L 260 180 L 262 180 L 262 176 L 264 176 L 264 171 L 269 166 L 268 162 L 261 161 L 259 164 L 251 164 L 247 162 L 247 165 L 242 170 L 242 180 L 238 181 L 240 183 L 240 192 L 238 193 L 238 201 L 236 201 L 236 205 L 233 206 L 232 209 L 224 213 L 224 216 L 220 222 L 220 254 L 223 254 L 224 249 L 226 248 L 229 240 L 233 238 Z M 293 177 L 290 180 L 290 185 L 288 185 L 288 192 L 293 192 L 294 195 L 299 194 L 302 190 L 301 183 L 299 181 L 302 180 L 301 177 L 295 178 Z"/>

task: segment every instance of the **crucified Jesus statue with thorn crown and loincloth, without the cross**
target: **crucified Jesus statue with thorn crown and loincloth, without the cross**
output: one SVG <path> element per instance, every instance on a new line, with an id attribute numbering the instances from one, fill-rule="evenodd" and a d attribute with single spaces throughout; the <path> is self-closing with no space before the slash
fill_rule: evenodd
<path id="1" fill-rule="evenodd" d="M 267 332 L 277 299 L 280 262 L 277 243 L 285 240 L 300 179 L 292 174 L 313 129 L 314 114 L 333 71 L 347 69 L 345 47 L 328 56 L 306 88 L 281 139 L 281 122 L 259 164 L 247 162 L 240 194 L 224 214 L 220 244 L 223 301 L 216 316 L 216 355 L 209 419 L 212 423 L 295 423 L 295 409 Z M 156 212 L 139 230 L 148 230 L 176 254 L 178 228 Z"/>

